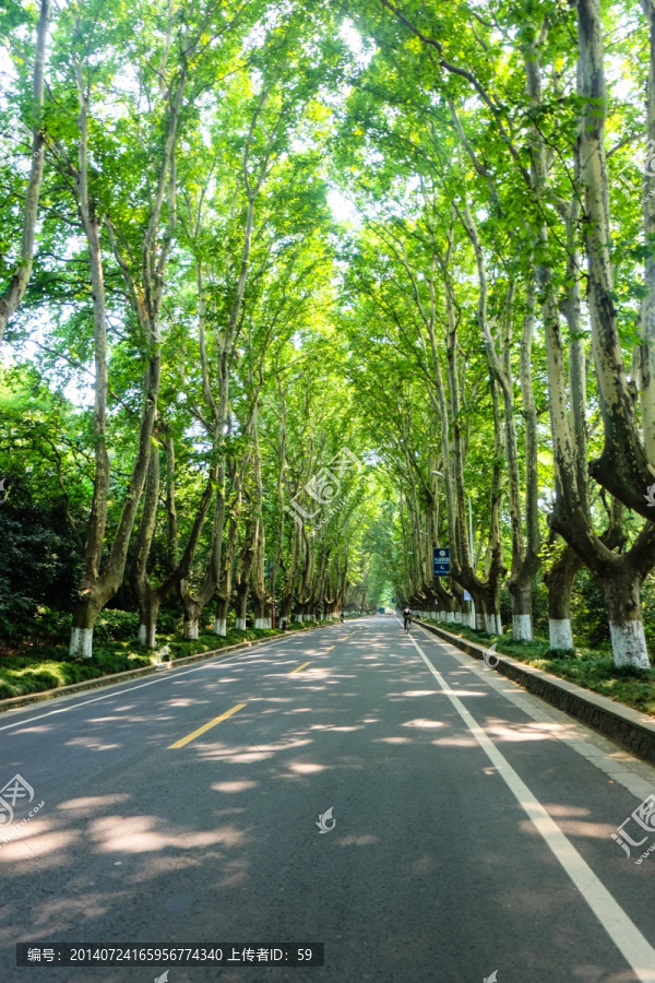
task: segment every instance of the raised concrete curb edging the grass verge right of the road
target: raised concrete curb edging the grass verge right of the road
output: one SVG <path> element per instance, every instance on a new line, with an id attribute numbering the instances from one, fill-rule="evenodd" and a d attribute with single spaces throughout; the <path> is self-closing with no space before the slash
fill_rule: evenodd
<path id="1" fill-rule="evenodd" d="M 484 660 L 487 651 L 485 646 L 476 644 L 458 635 L 451 635 L 450 631 L 420 619 L 417 620 L 422 628 L 466 652 L 467 655 Z M 616 741 L 633 755 L 655 763 L 655 720 L 652 716 L 617 703 L 600 694 L 575 686 L 567 679 L 545 673 L 525 662 L 517 662 L 510 655 L 503 655 L 501 652 L 493 654 L 498 659 L 498 665 L 492 666 L 496 672 L 502 673 L 528 692 L 552 703 L 558 710 L 563 710 L 605 737 Z"/>

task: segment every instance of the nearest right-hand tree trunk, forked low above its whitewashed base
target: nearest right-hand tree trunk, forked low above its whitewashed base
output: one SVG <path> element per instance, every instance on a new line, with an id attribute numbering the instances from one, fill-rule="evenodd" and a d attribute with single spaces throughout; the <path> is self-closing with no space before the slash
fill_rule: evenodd
<path id="1" fill-rule="evenodd" d="M 633 435 L 621 393 L 621 387 L 624 387 L 624 370 L 616 334 L 616 312 L 611 303 L 612 271 L 608 251 L 606 165 L 605 150 L 600 139 L 606 111 L 605 83 L 600 22 L 597 14 L 596 0 L 579 0 L 579 85 L 584 105 L 584 116 L 581 126 L 576 174 L 580 173 L 585 187 L 590 308 L 593 322 L 592 350 L 605 424 L 604 457 L 612 440 L 620 435 L 624 446 L 621 449 L 621 461 L 617 461 L 617 471 L 626 475 L 626 455 L 632 454 L 634 445 L 631 442 Z M 540 105 L 541 93 L 536 59 L 531 61 L 528 92 L 534 105 Z M 547 180 L 546 147 L 543 137 L 537 130 L 534 132 L 532 179 L 535 193 L 541 194 Z M 571 223 L 569 229 L 571 229 Z M 580 451 L 582 449 L 576 447 L 572 434 L 572 427 L 576 434 L 580 429 L 580 419 L 576 419 L 580 393 L 576 393 L 575 389 L 572 391 L 573 419 L 571 419 L 553 273 L 546 259 L 548 257 L 546 225 L 540 226 L 538 234 L 539 250 L 544 259 L 536 268 L 536 275 L 543 301 L 556 476 L 556 501 L 550 524 L 590 567 L 604 588 L 610 618 L 615 663 L 646 668 L 650 661 L 643 638 L 643 626 L 635 624 L 641 621 L 641 611 L 639 596 L 635 597 L 634 591 L 636 585 L 643 581 L 646 572 L 655 566 L 655 525 L 646 523 L 632 548 L 622 556 L 611 553 L 594 531 L 588 510 L 586 485 L 583 485 L 582 478 L 579 481 L 582 467 Z M 604 291 L 607 292 L 604 294 Z M 565 305 L 568 316 L 571 308 L 570 301 L 569 296 Z M 611 372 L 616 372 L 616 378 L 609 378 Z M 623 374 L 622 381 L 621 372 Z M 610 405 L 611 412 L 608 412 Z M 619 500 L 626 500 L 624 493 L 618 494 L 616 497 Z M 621 589 L 619 585 L 622 585 Z"/>

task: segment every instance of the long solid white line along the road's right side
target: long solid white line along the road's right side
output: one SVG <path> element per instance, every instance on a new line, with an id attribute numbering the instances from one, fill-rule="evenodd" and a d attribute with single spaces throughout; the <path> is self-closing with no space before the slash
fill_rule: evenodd
<path id="1" fill-rule="evenodd" d="M 434 668 L 420 646 L 415 639 L 412 639 L 412 641 L 441 689 L 491 763 L 496 766 L 498 773 L 514 794 L 519 804 L 527 813 L 537 831 L 546 840 L 557 860 L 635 973 L 636 979 L 641 980 L 642 983 L 655 983 L 655 949 L 628 917 L 605 885 L 596 877 L 586 861 L 583 860 L 559 826 L 550 818 L 541 803 L 533 795 L 523 779 L 514 771 L 510 762 L 487 736 L 484 729 L 468 712 L 460 698 L 448 686 L 443 676 Z"/>

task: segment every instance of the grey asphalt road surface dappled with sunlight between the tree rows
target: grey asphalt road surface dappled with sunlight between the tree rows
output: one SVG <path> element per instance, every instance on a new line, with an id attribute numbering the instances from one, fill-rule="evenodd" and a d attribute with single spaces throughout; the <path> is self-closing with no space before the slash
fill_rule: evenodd
<path id="1" fill-rule="evenodd" d="M 395 617 L 2 714 L 7 783 L 2 983 L 165 971 L 16 943 L 325 946 L 168 983 L 655 981 L 655 769 Z"/>

